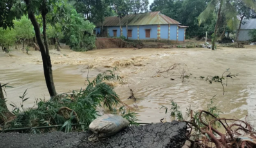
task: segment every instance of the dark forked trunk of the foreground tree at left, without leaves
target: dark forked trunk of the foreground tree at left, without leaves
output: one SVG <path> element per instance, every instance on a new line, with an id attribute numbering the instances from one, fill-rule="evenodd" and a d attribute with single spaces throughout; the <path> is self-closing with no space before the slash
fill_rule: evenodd
<path id="1" fill-rule="evenodd" d="M 47 40 L 46 40 L 47 39 L 46 38 L 46 14 L 45 13 L 42 14 L 43 23 L 44 23 L 44 39 L 45 39 L 44 43 L 46 43 L 46 45 L 44 46 L 44 43 L 41 38 L 39 24 L 37 23 L 37 19 L 35 19 L 34 12 L 30 9 L 30 0 L 25 0 L 25 2 L 26 2 L 26 7 L 28 8 L 28 17 L 30 18 L 31 23 L 34 26 L 37 43 L 39 45 L 40 52 L 42 55 L 42 61 L 43 61 L 43 66 L 44 66 L 44 77 L 46 80 L 48 92 L 51 97 L 57 96 L 57 92 L 55 90 L 55 85 L 53 82 L 53 70 L 52 70 L 52 65 L 51 65 L 51 57 L 50 57 L 50 54 L 48 51 L 48 45 L 47 45 Z M 44 10 L 42 10 L 42 11 L 44 11 Z"/>

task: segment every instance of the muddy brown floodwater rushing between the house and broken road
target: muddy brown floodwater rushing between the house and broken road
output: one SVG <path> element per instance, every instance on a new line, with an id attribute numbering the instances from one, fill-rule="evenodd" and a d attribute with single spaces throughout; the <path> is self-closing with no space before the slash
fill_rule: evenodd
<path id="1" fill-rule="evenodd" d="M 170 107 L 170 99 L 186 107 L 205 109 L 212 96 L 217 95 L 214 104 L 221 109 L 221 117 L 255 119 L 256 111 L 256 47 L 244 49 L 220 47 L 217 51 L 205 48 L 195 49 L 106 49 L 90 52 L 51 50 L 53 75 L 58 93 L 84 88 L 89 78 L 100 72 L 118 67 L 118 74 L 127 84 L 116 84 L 116 92 L 128 105 L 138 112 L 141 123 L 158 123 L 167 118 L 161 105 Z M 10 55 L 0 53 L 0 81 L 9 83 L 6 88 L 8 104 L 21 103 L 26 89 L 26 107 L 33 107 L 35 98 L 48 99 L 44 82 L 42 58 L 39 52 L 30 50 L 30 55 L 14 50 Z M 165 71 L 174 63 L 182 63 L 169 73 Z M 186 66 L 185 66 L 186 65 Z M 90 68 L 90 70 L 89 70 Z M 192 74 L 182 82 L 181 72 Z M 237 78 L 225 80 L 225 95 L 221 83 L 208 83 L 200 76 L 221 76 L 230 69 Z M 89 73 L 88 73 L 89 70 Z M 171 78 L 173 80 L 171 80 Z M 238 79 L 239 78 L 239 79 Z M 136 103 L 128 100 L 129 87 L 134 90 Z M 135 107 L 137 106 L 137 107 Z M 11 109 L 11 106 L 9 105 Z"/>

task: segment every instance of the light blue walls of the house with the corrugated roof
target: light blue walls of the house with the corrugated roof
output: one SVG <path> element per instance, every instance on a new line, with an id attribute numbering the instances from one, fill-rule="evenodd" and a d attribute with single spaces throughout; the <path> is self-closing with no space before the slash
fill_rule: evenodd
<path id="1" fill-rule="evenodd" d="M 139 39 L 158 39 L 158 32 L 157 27 L 158 25 L 139 25 Z M 177 41 L 177 28 L 178 25 L 170 25 L 170 41 Z M 96 33 L 100 31 L 100 28 L 95 28 Z M 120 27 L 119 26 L 113 26 L 113 27 L 107 27 L 107 30 L 109 32 L 109 36 L 113 37 L 113 30 L 117 30 L 117 37 L 120 37 Z M 137 25 L 131 25 L 128 26 L 128 30 L 131 31 L 131 37 L 129 39 L 137 40 L 138 39 L 138 26 Z M 150 30 L 150 38 L 146 38 L 146 32 L 145 30 Z M 184 41 L 184 32 L 185 28 L 179 28 L 179 37 L 178 41 Z M 127 36 L 127 30 L 126 26 L 122 26 L 122 35 Z M 169 36 L 169 25 L 161 25 L 161 34 L 160 39 L 168 39 Z"/>

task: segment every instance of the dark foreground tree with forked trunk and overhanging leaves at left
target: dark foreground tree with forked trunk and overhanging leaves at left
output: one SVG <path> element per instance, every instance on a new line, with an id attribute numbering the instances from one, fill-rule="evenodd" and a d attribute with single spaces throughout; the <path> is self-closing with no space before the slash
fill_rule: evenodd
<path id="1" fill-rule="evenodd" d="M 42 55 L 42 61 L 44 66 L 44 77 L 46 81 L 46 85 L 48 88 L 48 92 L 50 96 L 53 98 L 57 96 L 57 92 L 55 90 L 55 85 L 53 81 L 53 70 L 51 64 L 51 56 L 48 49 L 48 41 L 46 36 L 46 15 L 48 12 L 53 10 L 53 6 L 56 3 L 59 3 L 58 0 L 39 0 L 39 1 L 31 1 L 31 0 L 3 0 L 3 3 L 6 3 L 6 8 L 1 5 L 4 11 L 1 16 L 4 16 L 3 20 L 0 20 L 0 27 L 3 28 L 12 27 L 12 20 L 15 17 L 20 18 L 23 14 L 28 14 L 28 18 L 30 19 L 31 23 L 33 24 L 35 35 L 37 38 L 37 43 L 40 48 L 40 52 Z M 16 13 L 15 13 L 16 11 Z M 42 39 L 42 34 L 40 32 L 40 26 L 35 18 L 35 14 L 39 13 L 42 15 L 43 21 L 43 36 L 44 40 Z"/>

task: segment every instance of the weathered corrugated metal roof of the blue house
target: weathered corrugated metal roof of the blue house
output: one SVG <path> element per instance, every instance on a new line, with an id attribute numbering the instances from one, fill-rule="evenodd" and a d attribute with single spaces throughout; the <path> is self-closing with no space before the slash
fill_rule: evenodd
<path id="1" fill-rule="evenodd" d="M 129 14 L 121 18 L 121 25 L 163 25 L 163 24 L 180 24 L 178 21 L 167 17 L 158 12 L 149 12 L 142 14 Z M 103 26 L 119 26 L 118 17 L 106 17 Z"/>

